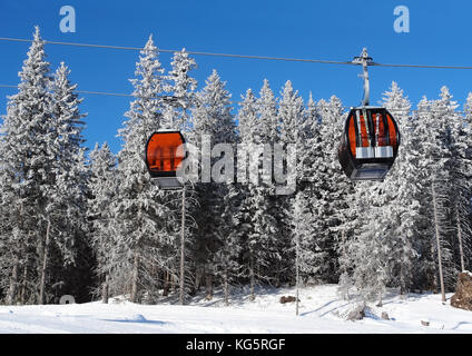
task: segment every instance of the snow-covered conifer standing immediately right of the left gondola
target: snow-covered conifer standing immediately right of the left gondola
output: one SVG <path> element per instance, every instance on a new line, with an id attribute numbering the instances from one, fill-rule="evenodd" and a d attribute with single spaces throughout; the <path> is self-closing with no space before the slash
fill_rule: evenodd
<path id="1" fill-rule="evenodd" d="M 194 240 L 190 254 L 193 255 L 196 268 L 204 270 L 207 287 L 207 298 L 213 298 L 213 277 L 217 273 L 217 265 L 223 261 L 217 260 L 217 251 L 225 246 L 226 236 L 218 234 L 225 225 L 224 201 L 229 194 L 226 182 L 216 182 L 210 177 L 210 169 L 219 157 L 204 157 L 209 154 L 209 147 L 204 147 L 205 140 L 210 139 L 210 147 L 218 144 L 236 144 L 236 126 L 232 115 L 230 95 L 225 88 L 216 70 L 206 80 L 206 86 L 197 95 L 196 106 L 193 109 L 193 142 L 196 144 L 203 157 L 200 162 L 200 175 L 203 182 L 195 187 L 196 199 L 198 200 L 198 212 L 195 212 L 198 229 L 194 231 Z M 235 147 L 234 147 L 235 148 Z M 213 155 L 212 155 L 213 156 Z M 209 165 L 208 165 L 209 164 Z M 206 177 L 206 178 L 205 178 Z M 228 177 L 233 180 L 233 177 Z M 219 255 L 220 257 L 223 255 Z"/>

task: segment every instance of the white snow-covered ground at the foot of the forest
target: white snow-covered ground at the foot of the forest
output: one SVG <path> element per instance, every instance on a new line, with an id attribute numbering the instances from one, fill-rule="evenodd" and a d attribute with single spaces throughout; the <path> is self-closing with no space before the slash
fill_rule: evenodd
<path id="1" fill-rule="evenodd" d="M 250 301 L 246 289 L 237 289 L 229 307 L 220 294 L 210 301 L 195 297 L 187 306 L 171 298 L 159 305 L 114 299 L 108 305 L 0 306 L 0 333 L 472 333 L 472 312 L 449 300 L 443 305 L 434 294 L 390 295 L 382 307 L 368 305 L 364 319 L 348 322 L 345 314 L 355 301 L 341 299 L 334 285 L 303 288 L 299 316 L 294 303 L 279 303 L 281 296 L 295 295 L 294 288 L 258 293 Z M 382 319 L 382 312 L 391 319 Z"/>

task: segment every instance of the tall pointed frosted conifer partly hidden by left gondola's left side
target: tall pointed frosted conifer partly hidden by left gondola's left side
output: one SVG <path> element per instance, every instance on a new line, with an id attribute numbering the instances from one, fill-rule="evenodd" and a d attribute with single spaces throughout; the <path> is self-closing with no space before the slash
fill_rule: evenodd
<path id="1" fill-rule="evenodd" d="M 130 81 L 136 99 L 125 113 L 128 119 L 125 127 L 118 132 L 124 145 L 118 154 L 120 184 L 114 202 L 116 254 L 122 256 L 122 268 L 110 275 L 110 284 L 124 286 L 122 293 L 129 293 L 131 301 L 140 299 L 140 287 L 153 290 L 154 271 L 166 268 L 160 260 L 159 244 L 167 239 L 169 211 L 163 204 L 165 192 L 150 179 L 144 158 L 149 136 L 161 127 L 165 107 L 164 69 L 153 37 L 140 51 L 135 73 Z"/>

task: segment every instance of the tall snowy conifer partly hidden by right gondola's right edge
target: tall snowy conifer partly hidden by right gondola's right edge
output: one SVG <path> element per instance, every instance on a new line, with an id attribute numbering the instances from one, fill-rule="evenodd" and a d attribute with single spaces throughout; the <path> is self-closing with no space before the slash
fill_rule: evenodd
<path id="1" fill-rule="evenodd" d="M 377 201 L 381 205 L 380 219 L 389 226 L 383 237 L 390 247 L 390 266 L 392 286 L 399 286 L 401 294 L 412 287 L 415 250 L 415 224 L 420 215 L 420 189 L 417 187 L 417 159 L 411 103 L 396 82 L 392 82 L 384 92 L 383 106 L 395 118 L 400 132 L 401 146 L 395 165 L 381 185 Z"/>

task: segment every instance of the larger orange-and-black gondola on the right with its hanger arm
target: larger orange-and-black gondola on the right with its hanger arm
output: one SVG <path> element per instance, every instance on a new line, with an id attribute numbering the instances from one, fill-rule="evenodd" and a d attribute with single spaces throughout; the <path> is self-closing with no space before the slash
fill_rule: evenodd
<path id="1" fill-rule="evenodd" d="M 400 130 L 384 107 L 370 106 L 368 66 L 373 59 L 364 48 L 352 61 L 363 68 L 364 97 L 360 107 L 351 108 L 338 146 L 340 164 L 352 180 L 383 180 L 395 161 Z"/>

